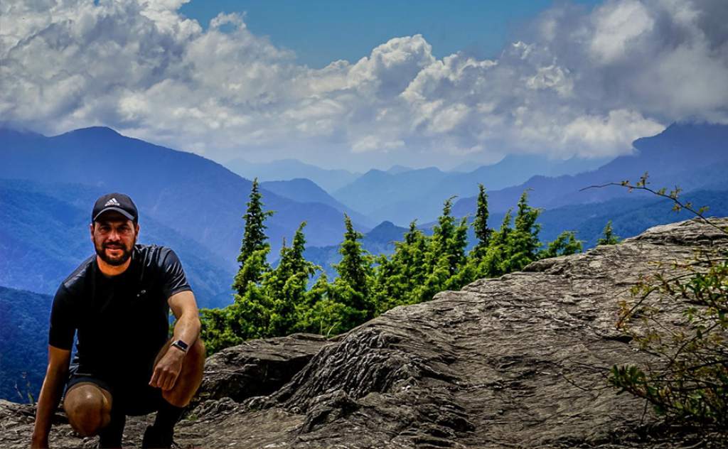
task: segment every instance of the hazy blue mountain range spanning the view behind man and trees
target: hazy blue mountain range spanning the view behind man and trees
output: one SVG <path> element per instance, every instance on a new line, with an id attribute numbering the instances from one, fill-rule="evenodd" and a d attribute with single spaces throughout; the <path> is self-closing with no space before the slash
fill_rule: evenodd
<path id="1" fill-rule="evenodd" d="M 654 206 L 656 199 L 641 191 L 630 194 L 614 186 L 583 190 L 623 179 L 635 181 L 644 172 L 650 173 L 649 186 L 678 185 L 705 199 L 713 207 L 711 212 L 718 213 L 724 207 L 723 192 L 728 191 L 726 142 L 726 126 L 673 124 L 659 135 L 636 140 L 633 154 L 591 171 L 555 177 L 541 174 L 505 188 L 488 187 L 489 224 L 497 228 L 526 189 L 529 204 L 544 209 L 539 218 L 544 241 L 571 229 L 589 247 L 609 219 L 617 234 L 629 237 L 652 224 L 684 218 L 671 216 L 663 205 Z M 0 285 L 53 293 L 58 282 L 92 251 L 86 233 L 94 199 L 108 191 L 124 191 L 140 207 L 141 241 L 169 245 L 180 253 L 202 305 L 229 303 L 250 180 L 201 156 L 101 127 L 55 137 L 0 130 L 0 157 L 0 250 L 7 255 L 0 258 Z M 298 224 L 306 220 L 306 255 L 332 274 L 331 263 L 339 258 L 344 234 L 344 213 L 365 234 L 365 249 L 389 253 L 392 241 L 400 239 L 405 228 L 389 217 L 378 220 L 381 211 L 391 208 L 400 220 L 407 217 L 404 223 L 429 217 L 430 223 L 419 221 L 427 230 L 447 196 L 467 194 L 454 204 L 453 213 L 472 216 L 472 194 L 478 183 L 507 184 L 516 178 L 506 174 L 517 169 L 526 176 L 537 170 L 531 165 L 537 159 L 529 157 L 509 156 L 470 172 L 402 166 L 386 172 L 370 170 L 333 195 L 305 178 L 264 181 L 265 208 L 275 211 L 266 221 L 271 259 L 283 239 L 290 241 Z M 596 162 L 574 159 L 549 166 L 542 161 L 540 170 L 568 172 Z M 362 209 L 347 202 L 357 202 Z M 362 210 L 379 212 L 372 216 Z"/>

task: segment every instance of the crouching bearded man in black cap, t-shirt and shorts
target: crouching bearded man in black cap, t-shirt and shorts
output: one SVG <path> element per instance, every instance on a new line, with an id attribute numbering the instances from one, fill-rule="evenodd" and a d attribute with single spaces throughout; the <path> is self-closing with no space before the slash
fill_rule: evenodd
<path id="1" fill-rule="evenodd" d="M 202 381 L 197 303 L 172 250 L 136 245 L 138 210 L 129 196 L 101 196 L 90 231 L 96 255 L 63 281 L 53 300 L 31 448 L 48 447 L 64 385 L 68 421 L 79 434 L 98 434 L 100 448 L 121 447 L 126 416 L 154 410 L 142 447 L 169 448 Z M 177 323 L 168 339 L 170 309 Z"/>

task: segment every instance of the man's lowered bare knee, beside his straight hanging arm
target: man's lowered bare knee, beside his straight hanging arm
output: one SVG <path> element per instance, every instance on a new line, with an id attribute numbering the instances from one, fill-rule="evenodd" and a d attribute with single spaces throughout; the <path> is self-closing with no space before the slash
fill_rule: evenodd
<path id="1" fill-rule="evenodd" d="M 66 393 L 63 399 L 68 422 L 88 437 L 98 434 L 111 421 L 111 400 L 94 384 L 78 384 Z"/>

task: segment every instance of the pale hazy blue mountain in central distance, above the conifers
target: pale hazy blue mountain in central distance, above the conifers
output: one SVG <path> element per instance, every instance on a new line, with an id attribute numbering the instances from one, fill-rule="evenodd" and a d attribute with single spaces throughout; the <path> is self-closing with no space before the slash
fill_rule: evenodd
<path id="1" fill-rule="evenodd" d="M 333 196 L 373 220 L 392 220 L 405 225 L 415 218 L 421 222 L 434 220 L 446 199 L 472 196 L 478 192 L 478 183 L 488 189 L 503 188 L 522 183 L 537 173 L 575 173 L 607 161 L 577 158 L 559 161 L 538 155 L 509 155 L 496 164 L 467 172 L 443 172 L 434 167 L 406 170 L 395 166 L 387 172 L 370 170 Z"/>

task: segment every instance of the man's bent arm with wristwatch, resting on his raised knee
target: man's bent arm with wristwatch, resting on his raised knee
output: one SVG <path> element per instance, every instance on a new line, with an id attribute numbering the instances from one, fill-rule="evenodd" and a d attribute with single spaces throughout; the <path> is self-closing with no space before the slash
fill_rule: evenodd
<path id="1" fill-rule="evenodd" d="M 194 294 L 189 290 L 175 293 L 170 296 L 167 303 L 170 304 L 170 309 L 177 318 L 172 341 L 181 340 L 192 346 L 199 337 L 201 327 Z M 184 355 L 185 353 L 181 349 L 169 346 L 167 352 L 154 366 L 154 373 L 151 375 L 149 385 L 163 390 L 172 389 L 182 370 Z"/>

